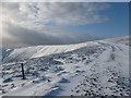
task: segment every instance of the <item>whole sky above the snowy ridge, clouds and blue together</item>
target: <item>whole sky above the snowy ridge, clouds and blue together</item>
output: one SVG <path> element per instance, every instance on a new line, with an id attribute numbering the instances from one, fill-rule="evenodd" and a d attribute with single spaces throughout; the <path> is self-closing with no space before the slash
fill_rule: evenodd
<path id="1" fill-rule="evenodd" d="M 128 2 L 3 2 L 2 47 L 74 44 L 129 35 Z"/>

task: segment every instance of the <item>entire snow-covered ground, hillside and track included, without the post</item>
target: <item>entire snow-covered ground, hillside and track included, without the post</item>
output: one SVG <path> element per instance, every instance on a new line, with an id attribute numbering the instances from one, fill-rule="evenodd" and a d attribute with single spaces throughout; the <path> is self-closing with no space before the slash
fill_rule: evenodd
<path id="1" fill-rule="evenodd" d="M 26 79 L 21 75 L 22 60 Z M 8 50 L 3 62 L 1 96 L 129 96 L 130 93 L 128 37 Z"/>

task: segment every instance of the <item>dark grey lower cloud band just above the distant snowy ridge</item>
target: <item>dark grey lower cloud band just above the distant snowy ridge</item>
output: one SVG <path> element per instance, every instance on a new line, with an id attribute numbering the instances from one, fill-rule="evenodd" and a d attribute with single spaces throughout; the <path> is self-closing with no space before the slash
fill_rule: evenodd
<path id="1" fill-rule="evenodd" d="M 2 40 L 3 48 L 16 48 L 38 45 L 75 44 L 91 39 L 96 39 L 95 37 L 92 36 L 86 35 L 80 36 L 75 34 L 66 33 L 60 34 L 56 33 L 52 35 L 44 33 L 44 30 L 41 33 L 41 30 L 34 30 L 11 24 L 9 24 L 5 27 L 4 33 L 7 33 L 10 36 L 10 38 L 5 38 L 3 36 Z"/>

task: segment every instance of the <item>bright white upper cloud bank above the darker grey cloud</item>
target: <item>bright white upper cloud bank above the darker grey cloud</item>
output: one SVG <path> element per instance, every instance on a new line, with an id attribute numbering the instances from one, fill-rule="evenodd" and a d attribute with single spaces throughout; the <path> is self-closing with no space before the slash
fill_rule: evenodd
<path id="1" fill-rule="evenodd" d="M 23 24 L 55 23 L 63 24 L 92 24 L 108 20 L 98 12 L 108 9 L 107 3 L 85 2 L 45 2 L 45 3 L 4 3 L 3 11 L 10 21 Z"/>

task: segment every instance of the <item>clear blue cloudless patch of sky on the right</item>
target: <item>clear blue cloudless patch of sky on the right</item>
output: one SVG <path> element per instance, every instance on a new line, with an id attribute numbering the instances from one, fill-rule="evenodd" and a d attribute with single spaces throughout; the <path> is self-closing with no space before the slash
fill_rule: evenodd
<path id="1" fill-rule="evenodd" d="M 108 17 L 107 22 L 100 24 L 85 24 L 78 26 L 69 26 L 66 30 L 74 30 L 74 33 L 87 33 L 93 36 L 103 38 L 119 37 L 129 35 L 129 7 L 123 2 L 111 2 L 110 8 L 103 11 L 102 14 Z M 78 29 L 75 29 L 78 28 Z"/>

